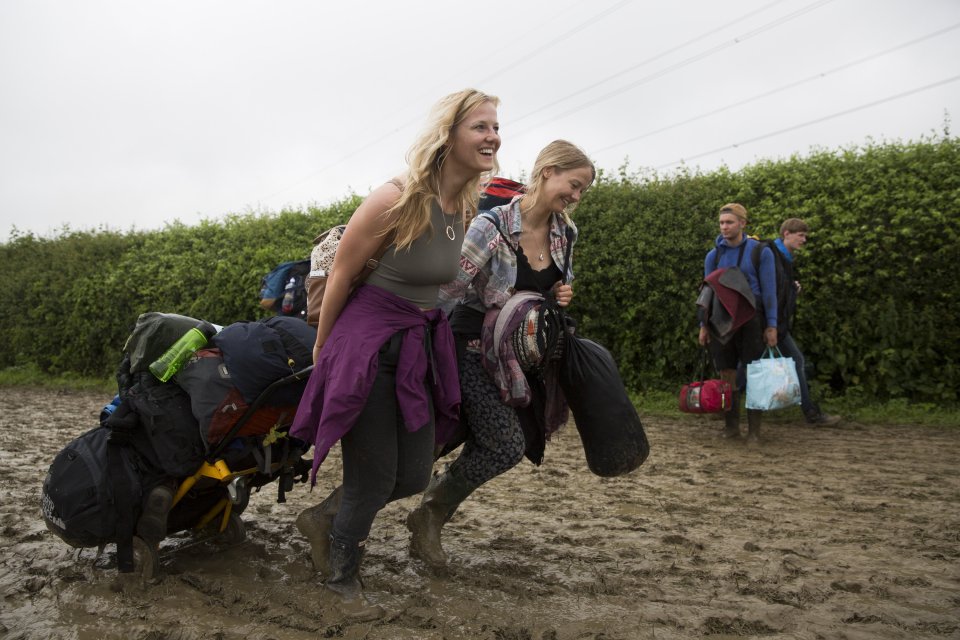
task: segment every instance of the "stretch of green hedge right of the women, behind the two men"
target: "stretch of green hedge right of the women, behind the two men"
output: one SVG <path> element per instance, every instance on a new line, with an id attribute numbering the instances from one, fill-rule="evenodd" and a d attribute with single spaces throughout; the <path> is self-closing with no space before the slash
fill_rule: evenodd
<path id="1" fill-rule="evenodd" d="M 690 377 L 694 299 L 717 210 L 775 237 L 811 225 L 793 331 L 823 391 L 953 400 L 960 379 L 960 141 L 889 143 L 762 162 L 737 173 L 604 179 L 577 210 L 576 307 L 628 385 Z"/>

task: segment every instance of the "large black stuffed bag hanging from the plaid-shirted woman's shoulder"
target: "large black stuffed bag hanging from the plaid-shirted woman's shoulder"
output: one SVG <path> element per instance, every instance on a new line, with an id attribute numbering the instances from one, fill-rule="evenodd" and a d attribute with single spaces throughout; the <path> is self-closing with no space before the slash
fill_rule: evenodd
<path id="1" fill-rule="evenodd" d="M 609 351 L 592 340 L 567 334 L 560 388 L 590 471 L 603 477 L 620 476 L 643 464 L 650 443 Z"/>

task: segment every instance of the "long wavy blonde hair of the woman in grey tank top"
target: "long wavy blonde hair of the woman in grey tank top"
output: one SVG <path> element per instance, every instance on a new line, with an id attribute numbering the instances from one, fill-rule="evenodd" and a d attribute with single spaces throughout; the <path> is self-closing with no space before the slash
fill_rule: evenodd
<path id="1" fill-rule="evenodd" d="M 500 99 L 476 89 L 464 89 L 441 98 L 431 109 L 425 129 L 407 151 L 408 169 L 403 193 L 387 212 L 400 212 L 385 231 L 396 232 L 397 249 L 409 247 L 430 226 L 430 209 L 433 200 L 439 196 L 440 170 L 450 151 L 450 139 L 457 126 L 485 102 L 498 106 Z M 480 199 L 481 181 L 498 171 L 499 165 L 494 158 L 490 173 L 477 174 L 463 186 L 454 200 L 455 210 L 464 212 L 465 216 L 472 215 Z"/>

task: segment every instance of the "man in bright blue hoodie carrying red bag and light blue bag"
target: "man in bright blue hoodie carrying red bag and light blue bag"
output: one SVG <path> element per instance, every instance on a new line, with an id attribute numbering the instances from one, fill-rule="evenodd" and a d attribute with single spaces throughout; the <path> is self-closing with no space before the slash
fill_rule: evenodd
<path id="1" fill-rule="evenodd" d="M 754 266 L 752 256 L 757 241 L 744 232 L 747 210 L 741 204 L 730 203 L 720 208 L 720 235 L 703 263 L 707 278 L 717 269 L 738 268 L 746 277 L 755 299 L 756 312 L 730 335 L 720 335 L 709 318 L 703 318 L 699 341 L 708 345 L 720 377 L 736 389 L 737 367 L 746 366 L 763 355 L 767 346 L 777 344 L 777 286 L 776 257 L 770 247 L 760 250 L 760 260 Z M 744 259 L 746 256 L 746 259 Z M 760 438 L 762 412 L 747 409 L 747 443 L 756 444 Z M 734 390 L 731 408 L 724 414 L 723 436 L 740 437 L 740 392 Z"/>

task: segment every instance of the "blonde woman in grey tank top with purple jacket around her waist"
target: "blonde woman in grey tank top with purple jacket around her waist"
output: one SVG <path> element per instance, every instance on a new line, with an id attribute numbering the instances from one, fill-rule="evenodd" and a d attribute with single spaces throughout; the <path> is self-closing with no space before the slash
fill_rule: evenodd
<path id="1" fill-rule="evenodd" d="M 423 491 L 435 441 L 456 424 L 453 338 L 435 305 L 440 285 L 457 275 L 480 182 L 497 169 L 498 104 L 473 89 L 441 99 L 406 174 L 363 201 L 337 249 L 315 368 L 290 433 L 314 445 L 313 482 L 340 441 L 343 485 L 297 527 L 341 603 L 367 606 L 359 569 L 373 520 L 388 502 Z M 385 238 L 379 266 L 351 295 Z"/>

